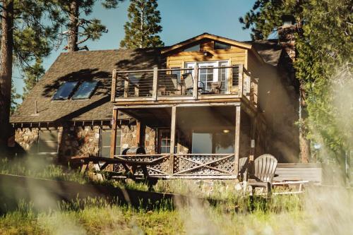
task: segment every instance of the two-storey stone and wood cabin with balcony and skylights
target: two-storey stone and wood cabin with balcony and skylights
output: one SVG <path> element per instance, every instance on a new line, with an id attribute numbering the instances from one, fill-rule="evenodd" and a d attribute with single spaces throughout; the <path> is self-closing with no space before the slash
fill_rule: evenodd
<path id="1" fill-rule="evenodd" d="M 61 53 L 11 116 L 16 152 L 156 160 L 149 173 L 235 178 L 240 157 L 299 155 L 297 86 L 277 40 L 204 33 L 170 47 Z"/>

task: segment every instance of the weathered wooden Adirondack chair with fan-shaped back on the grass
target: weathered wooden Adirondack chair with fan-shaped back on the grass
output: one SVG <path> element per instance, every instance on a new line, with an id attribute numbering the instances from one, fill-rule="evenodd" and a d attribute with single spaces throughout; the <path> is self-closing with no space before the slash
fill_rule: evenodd
<path id="1" fill-rule="evenodd" d="M 277 159 L 273 155 L 261 155 L 253 161 L 254 172 L 248 180 L 248 186 L 251 186 L 253 195 L 257 187 L 265 188 L 267 195 L 270 195 L 276 167 Z"/>

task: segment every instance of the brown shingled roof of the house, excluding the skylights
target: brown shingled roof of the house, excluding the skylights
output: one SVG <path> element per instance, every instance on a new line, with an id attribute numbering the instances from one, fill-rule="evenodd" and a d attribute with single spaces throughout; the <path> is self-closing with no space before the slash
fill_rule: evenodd
<path id="1" fill-rule="evenodd" d="M 253 44 L 263 60 L 277 66 L 282 52 L 275 40 L 245 42 Z M 116 49 L 61 53 L 44 77 L 31 90 L 11 123 L 60 121 L 93 121 L 112 119 L 110 85 L 114 69 L 137 70 L 163 66 L 159 49 Z M 62 82 L 70 80 L 99 80 L 97 90 L 87 100 L 52 100 Z M 37 102 L 37 115 L 35 115 Z"/>

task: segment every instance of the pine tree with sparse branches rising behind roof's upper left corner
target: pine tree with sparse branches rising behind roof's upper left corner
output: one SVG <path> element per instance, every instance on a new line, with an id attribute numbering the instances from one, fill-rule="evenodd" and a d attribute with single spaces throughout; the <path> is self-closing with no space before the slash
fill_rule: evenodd
<path id="1" fill-rule="evenodd" d="M 79 46 L 88 40 L 99 40 L 107 28 L 97 18 L 87 19 L 93 6 L 98 0 L 52 0 L 56 4 L 50 9 L 52 19 L 59 22 L 63 32 L 60 34 L 59 44 L 65 39 L 67 41 L 64 49 L 68 52 L 76 52 L 82 49 L 88 50 L 87 46 Z M 104 8 L 116 8 L 119 1 L 104 0 Z M 66 37 L 66 38 L 63 38 Z"/>

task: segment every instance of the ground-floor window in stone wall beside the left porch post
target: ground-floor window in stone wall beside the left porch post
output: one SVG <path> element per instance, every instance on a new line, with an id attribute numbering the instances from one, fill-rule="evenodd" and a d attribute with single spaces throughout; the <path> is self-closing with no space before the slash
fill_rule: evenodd
<path id="1" fill-rule="evenodd" d="M 100 156 L 110 156 L 110 138 L 112 137 L 112 129 L 101 129 L 100 132 Z M 115 154 L 121 154 L 121 129 L 116 129 Z"/>

